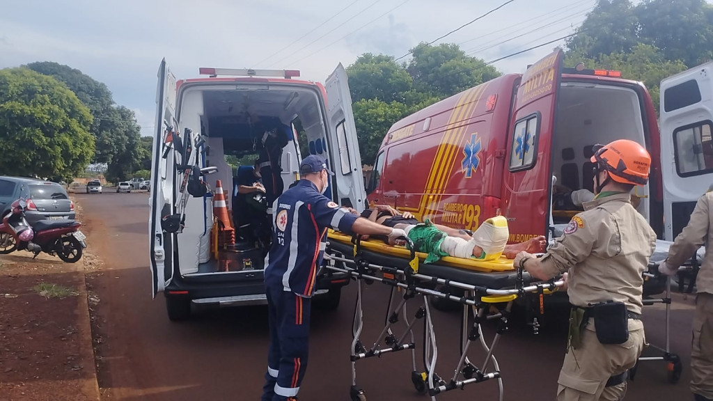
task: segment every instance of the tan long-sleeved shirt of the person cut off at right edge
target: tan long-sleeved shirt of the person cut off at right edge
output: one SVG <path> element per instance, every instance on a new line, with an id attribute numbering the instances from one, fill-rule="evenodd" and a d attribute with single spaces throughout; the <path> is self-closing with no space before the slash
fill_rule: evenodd
<path id="1" fill-rule="evenodd" d="M 689 260 L 696 250 L 705 245 L 706 254 L 701 263 L 701 269 L 696 277 L 696 288 L 699 293 L 713 294 L 713 250 L 709 247 L 713 239 L 713 192 L 698 199 L 696 208 L 691 213 L 691 220 L 686 228 L 677 235 L 669 248 L 666 264 L 670 268 L 679 268 Z"/>

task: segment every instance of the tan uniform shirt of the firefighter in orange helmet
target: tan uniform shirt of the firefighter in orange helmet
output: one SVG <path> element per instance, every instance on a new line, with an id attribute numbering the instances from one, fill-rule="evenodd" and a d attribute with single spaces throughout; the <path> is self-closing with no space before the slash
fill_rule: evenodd
<path id="1" fill-rule="evenodd" d="M 614 300 L 641 313 L 642 273 L 656 248 L 656 234 L 631 205 L 628 193 L 583 204 L 562 237 L 541 260 L 545 273 L 569 271 L 570 303 L 587 307 Z"/>

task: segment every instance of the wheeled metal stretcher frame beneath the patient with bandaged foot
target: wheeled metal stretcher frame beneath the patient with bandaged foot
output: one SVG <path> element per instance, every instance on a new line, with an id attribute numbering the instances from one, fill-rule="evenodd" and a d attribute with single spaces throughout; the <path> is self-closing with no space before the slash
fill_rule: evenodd
<path id="1" fill-rule="evenodd" d="M 419 273 L 419 258 L 414 252 L 414 244 L 409 238 L 406 240 L 407 249 L 411 251 L 411 260 L 408 267 L 396 267 L 370 263 L 364 258 L 361 242 L 359 238 L 352 238 L 352 258 L 348 258 L 349 245 L 340 244 L 337 241 L 329 240 L 325 268 L 340 273 L 349 274 L 356 280 L 356 305 L 354 310 L 354 322 L 352 325 L 352 348 L 350 360 L 352 362 L 352 386 L 349 395 L 353 401 L 365 401 L 366 393 L 356 385 L 356 362 L 369 357 L 381 357 L 386 353 L 411 350 L 411 360 L 413 370 L 411 372 L 411 382 L 417 392 L 428 394 L 431 400 L 436 400 L 436 395 L 456 389 L 463 389 L 466 385 L 485 382 L 488 380 L 498 380 L 499 400 L 503 400 L 503 381 L 498 360 L 494 351 L 501 337 L 508 330 L 508 320 L 511 315 L 513 303 L 518 298 L 525 298 L 527 295 L 539 295 L 540 310 L 543 309 L 543 295 L 550 295 L 564 285 L 563 280 L 548 280 L 538 283 L 525 284 L 525 274 L 523 270 L 516 270 L 515 285 L 513 288 L 495 289 L 481 285 L 461 283 L 457 280 L 438 278 L 434 275 Z M 338 245 L 339 244 L 339 245 Z M 336 245 L 336 246 L 335 246 Z M 340 246 L 341 245 L 341 246 Z M 339 248 L 339 249 L 337 249 Z M 339 256 L 342 255 L 342 256 Z M 403 259 L 401 259 L 403 260 Z M 339 263 L 339 265 L 337 265 Z M 374 342 L 369 342 L 371 346 L 367 349 L 360 335 L 363 328 L 364 311 L 361 305 L 362 282 L 379 282 L 391 286 L 389 303 L 386 308 L 386 322 L 384 328 L 376 337 Z M 445 290 L 434 289 L 436 285 L 443 285 Z M 456 296 L 450 293 L 449 288 L 465 290 L 463 296 Z M 394 295 L 397 291 L 402 291 L 401 301 L 394 307 Z M 442 298 L 460 303 L 463 308 L 461 319 L 461 341 L 460 357 L 453 375 L 443 378 L 436 374 L 435 367 L 438 359 L 438 347 L 436 345 L 436 333 L 434 323 L 431 320 L 431 307 L 429 299 Z M 406 303 L 410 300 L 419 299 L 422 305 L 414 314 L 414 320 L 409 321 L 406 311 Z M 497 313 L 490 313 L 491 308 L 497 308 Z M 472 323 L 471 323 L 472 315 Z M 394 326 L 402 316 L 406 329 L 399 337 L 394 335 Z M 416 367 L 416 344 L 414 341 L 413 328 L 418 320 L 424 321 L 424 371 L 419 371 Z M 482 324 L 488 320 L 498 320 L 498 328 L 491 342 L 486 342 L 483 336 Z M 536 323 L 536 321 L 535 321 Z M 535 333 L 538 333 L 537 325 L 533 326 Z M 385 347 L 381 347 L 381 342 Z M 408 340 L 408 341 L 407 341 Z M 468 358 L 468 350 L 475 342 L 480 342 L 485 357 L 480 367 L 473 365 Z M 492 366 L 492 370 L 490 367 Z"/>

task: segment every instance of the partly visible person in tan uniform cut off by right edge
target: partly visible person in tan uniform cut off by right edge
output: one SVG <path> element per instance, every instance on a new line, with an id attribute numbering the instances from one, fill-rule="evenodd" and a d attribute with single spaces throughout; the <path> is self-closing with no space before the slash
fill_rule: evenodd
<path id="1" fill-rule="evenodd" d="M 713 189 L 713 187 L 712 187 Z M 713 192 L 698 199 L 691 219 L 676 237 L 660 273 L 675 275 L 701 245 L 706 253 L 696 278 L 696 313 L 691 344 L 691 391 L 696 401 L 713 400 Z"/>

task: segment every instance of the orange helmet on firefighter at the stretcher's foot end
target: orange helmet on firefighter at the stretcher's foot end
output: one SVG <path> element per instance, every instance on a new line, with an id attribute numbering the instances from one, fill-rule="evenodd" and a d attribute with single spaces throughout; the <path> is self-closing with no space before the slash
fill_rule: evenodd
<path id="1" fill-rule="evenodd" d="M 595 146 L 591 161 L 607 171 L 617 183 L 643 186 L 649 180 L 651 156 L 640 144 L 619 139 Z"/>

